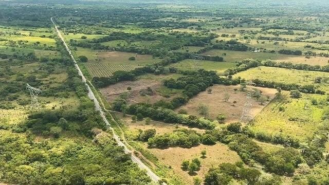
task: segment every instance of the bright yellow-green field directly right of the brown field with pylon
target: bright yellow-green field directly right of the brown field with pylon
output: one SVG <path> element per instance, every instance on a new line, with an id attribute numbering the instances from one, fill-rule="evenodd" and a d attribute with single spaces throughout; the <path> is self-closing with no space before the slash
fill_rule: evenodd
<path id="1" fill-rule="evenodd" d="M 322 125 L 324 105 L 313 105 L 311 100 L 325 102 L 326 96 L 303 94 L 300 99 L 291 99 L 288 92 L 283 95 L 283 99 L 272 101 L 255 117 L 252 130 L 270 134 L 283 133 L 302 141 L 312 137 Z M 283 107 L 284 111 L 280 111 L 279 107 Z"/>

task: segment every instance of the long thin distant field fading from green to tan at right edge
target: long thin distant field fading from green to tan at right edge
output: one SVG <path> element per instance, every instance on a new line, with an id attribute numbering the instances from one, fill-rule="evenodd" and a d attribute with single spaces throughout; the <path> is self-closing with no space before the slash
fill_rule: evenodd
<path id="1" fill-rule="evenodd" d="M 223 56 L 223 53 L 226 53 Z M 277 62 L 292 62 L 310 65 L 328 65 L 328 58 L 325 57 L 312 57 L 306 59 L 303 55 L 267 53 L 267 52 L 249 52 L 249 51 L 230 51 L 213 49 L 203 53 L 204 55 L 218 55 L 224 58 L 226 62 L 237 62 L 243 59 L 260 59 L 260 60 L 273 60 Z"/>

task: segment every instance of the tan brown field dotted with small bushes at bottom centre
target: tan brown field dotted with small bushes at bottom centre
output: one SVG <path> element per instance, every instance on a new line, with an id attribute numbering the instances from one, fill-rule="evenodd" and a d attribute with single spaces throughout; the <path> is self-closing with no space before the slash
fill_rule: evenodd
<path id="1" fill-rule="evenodd" d="M 197 176 L 204 178 L 205 174 L 211 167 L 216 167 L 223 162 L 234 163 L 240 161 L 239 155 L 236 152 L 229 150 L 229 147 L 217 143 L 212 146 L 200 144 L 197 147 L 191 149 L 183 149 L 181 147 L 170 147 L 165 150 L 161 149 L 149 149 L 161 162 L 170 166 L 182 179 L 186 181 L 186 184 L 193 184 L 193 177 L 187 172 L 180 169 L 181 162 L 184 159 L 192 160 L 193 158 L 199 158 L 201 161 L 201 168 L 197 172 Z M 207 157 L 205 159 L 200 158 L 201 151 L 207 151 Z"/>

